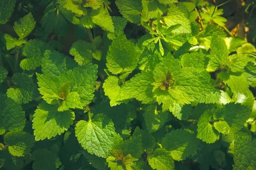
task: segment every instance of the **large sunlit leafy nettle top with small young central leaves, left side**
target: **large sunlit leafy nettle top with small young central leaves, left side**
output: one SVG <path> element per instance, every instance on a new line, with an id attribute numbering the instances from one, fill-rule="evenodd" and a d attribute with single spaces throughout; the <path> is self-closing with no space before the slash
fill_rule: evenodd
<path id="1" fill-rule="evenodd" d="M 43 74 L 37 74 L 38 90 L 47 103 L 61 102 L 58 111 L 82 108 L 93 99 L 97 65 L 76 66 L 69 57 L 47 50 L 42 71 Z"/>

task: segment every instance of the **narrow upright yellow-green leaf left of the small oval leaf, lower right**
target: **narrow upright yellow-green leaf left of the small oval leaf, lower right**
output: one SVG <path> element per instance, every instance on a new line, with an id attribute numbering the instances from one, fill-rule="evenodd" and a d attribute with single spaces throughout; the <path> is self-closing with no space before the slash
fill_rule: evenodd
<path id="1" fill-rule="evenodd" d="M 212 119 L 212 111 L 207 110 L 204 112 L 204 114 L 201 115 L 197 124 L 198 134 L 196 137 L 206 143 L 214 143 L 220 138 L 217 130 L 215 130 L 213 128 L 213 125 L 209 123 L 211 119 Z"/>

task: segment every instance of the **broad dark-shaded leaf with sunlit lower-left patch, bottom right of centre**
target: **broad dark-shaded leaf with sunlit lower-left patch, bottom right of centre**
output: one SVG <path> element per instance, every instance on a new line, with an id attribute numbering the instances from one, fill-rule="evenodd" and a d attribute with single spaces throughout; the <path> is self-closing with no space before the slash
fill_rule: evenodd
<path id="1" fill-rule="evenodd" d="M 163 148 L 169 150 L 176 161 L 193 155 L 199 146 L 199 140 L 189 129 L 177 129 L 167 133 L 162 140 Z"/>

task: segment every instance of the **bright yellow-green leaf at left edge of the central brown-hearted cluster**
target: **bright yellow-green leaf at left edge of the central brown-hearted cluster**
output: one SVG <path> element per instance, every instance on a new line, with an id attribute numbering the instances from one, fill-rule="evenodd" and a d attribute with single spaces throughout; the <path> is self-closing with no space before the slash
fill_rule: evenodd
<path id="1" fill-rule="evenodd" d="M 102 88 L 105 95 L 110 99 L 110 105 L 119 105 L 123 100 L 130 99 L 131 97 L 120 87 L 120 80 L 118 77 L 109 76 L 105 79 Z"/>

